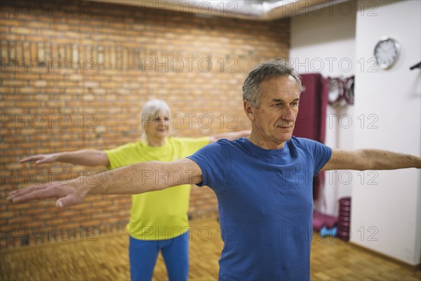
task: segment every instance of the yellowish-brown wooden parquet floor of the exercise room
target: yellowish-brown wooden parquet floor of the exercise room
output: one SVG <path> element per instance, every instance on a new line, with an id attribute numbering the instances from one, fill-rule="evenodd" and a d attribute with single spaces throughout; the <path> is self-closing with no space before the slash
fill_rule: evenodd
<path id="1" fill-rule="evenodd" d="M 218 222 L 192 221 L 191 226 L 189 280 L 217 280 L 222 249 Z M 129 280 L 127 235 L 97 238 L 1 251 L 0 280 Z M 159 256 L 154 280 L 166 279 Z M 312 244 L 312 280 L 421 280 L 421 272 L 323 238 Z"/>

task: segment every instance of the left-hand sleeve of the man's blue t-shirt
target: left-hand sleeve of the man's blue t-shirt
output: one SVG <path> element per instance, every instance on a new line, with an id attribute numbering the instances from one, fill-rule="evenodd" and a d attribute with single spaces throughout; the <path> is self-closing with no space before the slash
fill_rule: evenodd
<path id="1" fill-rule="evenodd" d="M 196 162 L 202 171 L 203 182 L 197 184 L 198 186 L 208 185 L 213 190 L 225 186 L 225 182 L 229 178 L 227 173 L 231 171 L 231 157 L 229 157 L 227 140 L 219 140 L 206 145 L 187 158 Z"/>

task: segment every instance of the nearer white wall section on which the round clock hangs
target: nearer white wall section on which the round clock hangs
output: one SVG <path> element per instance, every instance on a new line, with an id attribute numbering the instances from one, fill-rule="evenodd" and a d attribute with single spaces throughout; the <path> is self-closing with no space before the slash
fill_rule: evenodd
<path id="1" fill-rule="evenodd" d="M 401 57 L 390 70 L 370 70 L 369 65 L 356 69 L 355 116 L 373 115 L 377 129 L 357 126 L 354 146 L 421 155 L 421 77 L 420 70 L 409 70 L 421 60 L 421 1 L 377 1 L 369 7 L 370 2 L 357 4 L 357 60 L 373 57 L 383 36 L 399 41 Z M 420 263 L 420 171 L 378 171 L 370 178 L 373 185 L 368 177 L 353 184 L 351 241 L 412 265 Z"/>

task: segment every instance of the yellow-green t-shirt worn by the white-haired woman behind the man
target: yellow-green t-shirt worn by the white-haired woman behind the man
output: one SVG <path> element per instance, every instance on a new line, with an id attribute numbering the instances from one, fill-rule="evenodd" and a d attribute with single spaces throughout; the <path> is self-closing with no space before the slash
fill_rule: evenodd
<path id="1" fill-rule="evenodd" d="M 127 143 L 105 150 L 109 159 L 107 168 L 147 161 L 171 162 L 192 155 L 208 143 L 208 137 L 171 137 L 166 138 L 162 146 L 150 146 L 145 141 Z M 189 230 L 189 197 L 190 185 L 132 195 L 128 234 L 139 240 L 166 240 L 186 233 Z"/>

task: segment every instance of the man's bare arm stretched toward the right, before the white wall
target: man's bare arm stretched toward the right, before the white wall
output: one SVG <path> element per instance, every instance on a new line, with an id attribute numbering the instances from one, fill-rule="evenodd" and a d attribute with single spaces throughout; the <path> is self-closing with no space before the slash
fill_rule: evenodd
<path id="1" fill-rule="evenodd" d="M 332 156 L 322 171 L 328 170 L 394 170 L 421 169 L 421 158 L 387 150 L 332 150 Z"/>

